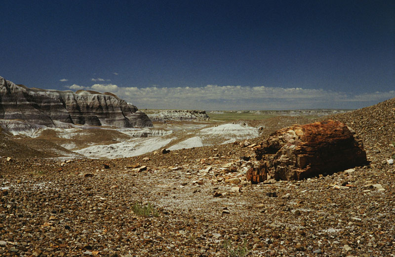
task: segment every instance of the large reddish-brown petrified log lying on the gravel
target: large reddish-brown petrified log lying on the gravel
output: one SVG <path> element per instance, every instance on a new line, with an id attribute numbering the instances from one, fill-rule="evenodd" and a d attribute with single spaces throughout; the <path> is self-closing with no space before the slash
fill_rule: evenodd
<path id="1" fill-rule="evenodd" d="M 247 180 L 294 180 L 343 171 L 367 163 L 362 141 L 338 121 L 294 125 L 277 130 L 254 147 L 261 165 L 247 171 Z"/>

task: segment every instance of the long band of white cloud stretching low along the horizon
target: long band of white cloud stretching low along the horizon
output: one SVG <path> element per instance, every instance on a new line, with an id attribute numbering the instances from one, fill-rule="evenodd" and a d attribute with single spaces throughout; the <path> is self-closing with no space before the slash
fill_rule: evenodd
<path id="1" fill-rule="evenodd" d="M 138 108 L 201 110 L 356 109 L 395 97 L 395 91 L 350 94 L 323 89 L 266 86 L 119 87 L 94 84 L 70 89 L 111 92 Z"/>

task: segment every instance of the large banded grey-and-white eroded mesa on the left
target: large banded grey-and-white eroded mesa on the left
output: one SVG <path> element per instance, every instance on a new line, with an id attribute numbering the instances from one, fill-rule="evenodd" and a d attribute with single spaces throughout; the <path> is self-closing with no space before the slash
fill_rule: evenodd
<path id="1" fill-rule="evenodd" d="M 51 128 L 62 124 L 152 127 L 133 104 L 112 93 L 28 88 L 0 77 L 0 119 L 22 120 Z"/>

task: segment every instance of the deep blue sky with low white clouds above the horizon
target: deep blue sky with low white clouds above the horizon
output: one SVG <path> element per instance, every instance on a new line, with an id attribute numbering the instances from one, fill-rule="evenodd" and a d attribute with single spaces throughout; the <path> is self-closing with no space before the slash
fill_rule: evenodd
<path id="1" fill-rule="evenodd" d="M 395 97 L 395 3 L 3 0 L 0 76 L 138 108 L 361 108 Z"/>

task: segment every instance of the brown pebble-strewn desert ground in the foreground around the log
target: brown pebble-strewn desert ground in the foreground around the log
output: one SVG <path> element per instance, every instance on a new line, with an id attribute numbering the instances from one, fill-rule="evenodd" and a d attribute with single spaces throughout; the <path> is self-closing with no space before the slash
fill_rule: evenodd
<path id="1" fill-rule="evenodd" d="M 329 118 L 356 130 L 368 165 L 256 185 L 243 140 L 104 160 L 2 136 L 0 256 L 395 256 L 395 99 Z M 251 145 L 312 120 L 245 122 L 263 127 Z"/>

